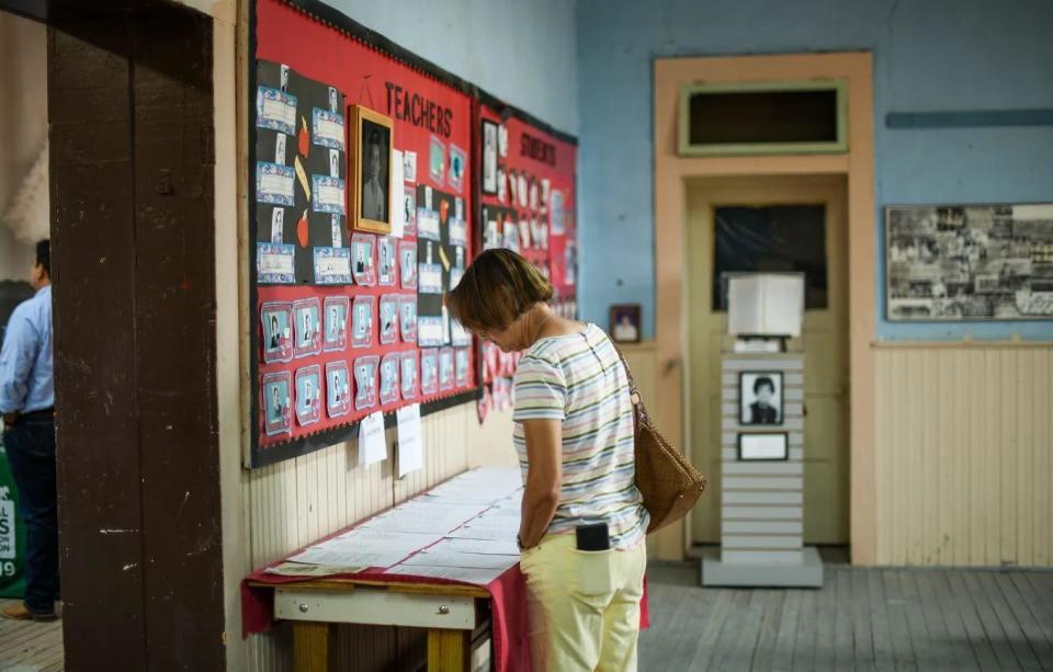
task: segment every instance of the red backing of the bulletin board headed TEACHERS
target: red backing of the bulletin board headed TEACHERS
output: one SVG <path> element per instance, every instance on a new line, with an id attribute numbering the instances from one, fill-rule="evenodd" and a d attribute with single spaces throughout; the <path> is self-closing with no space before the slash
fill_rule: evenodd
<path id="1" fill-rule="evenodd" d="M 471 89 L 463 82 L 443 81 L 441 78 L 427 72 L 421 67 L 416 67 L 405 59 L 396 58 L 389 53 L 382 52 L 372 44 L 366 44 L 360 36 L 352 36 L 348 32 L 342 32 L 331 25 L 326 25 L 316 18 L 309 15 L 304 10 L 294 8 L 280 0 L 258 0 L 254 5 L 254 53 L 258 61 L 269 61 L 271 64 L 287 65 L 298 76 L 314 80 L 322 84 L 336 88 L 346 99 L 344 107 L 347 130 L 351 127 L 350 110 L 353 105 L 364 105 L 369 109 L 387 115 L 394 121 L 394 148 L 398 151 L 416 152 L 416 181 L 405 182 L 405 191 L 417 187 L 430 186 L 437 192 L 444 192 L 455 198 L 463 198 L 464 219 L 467 223 L 467 244 L 465 246 L 465 265 L 469 261 L 471 251 L 475 249 L 473 241 L 475 231 L 478 229 L 473 221 L 476 216 L 476 202 L 473 197 L 475 169 L 473 167 L 473 134 L 477 128 L 476 101 L 471 94 Z M 254 73 L 253 73 L 254 75 Z M 256 82 L 252 81 L 251 94 L 256 96 Z M 251 132 L 256 132 L 256 124 L 250 124 Z M 355 152 L 360 148 L 354 146 L 353 135 L 348 134 L 347 157 L 354 160 Z M 434 143 L 441 143 L 445 147 L 443 175 L 441 179 L 433 176 L 433 171 L 429 170 L 430 152 Z M 250 146 L 254 146 L 254 139 L 250 139 Z M 290 145 L 292 148 L 292 145 Z M 463 179 L 460 189 L 453 185 L 454 181 L 450 179 L 451 171 L 451 148 L 463 151 L 464 164 Z M 254 167 L 256 158 L 250 157 L 250 164 Z M 573 163 L 573 158 L 569 159 Z M 341 170 L 343 174 L 350 175 L 350 167 Z M 254 169 L 253 169 L 254 171 Z M 397 174 L 397 172 L 396 172 Z M 573 186 L 573 171 L 570 173 L 570 184 Z M 562 178 L 561 178 L 562 179 Z M 564 183 L 561 182 L 561 185 Z M 347 191 L 355 189 L 354 184 L 348 184 Z M 253 193 L 250 189 L 250 194 Z M 400 193 L 394 190 L 392 201 Z M 262 226 L 257 220 L 256 198 L 250 197 L 250 234 L 254 241 L 265 241 L 267 232 L 259 229 Z M 423 204 L 418 204 L 423 205 Z M 393 204 L 392 207 L 400 207 L 399 204 Z M 444 207 L 443 210 L 446 208 Z M 350 208 L 349 208 L 350 210 Z M 443 215 L 443 225 L 445 225 L 445 214 Z M 343 226 L 348 227 L 348 218 L 343 219 Z M 351 236 L 356 235 L 348 228 L 343 231 L 344 239 L 349 244 Z M 401 238 L 403 241 L 416 242 L 415 232 L 407 230 Z M 285 241 L 291 242 L 288 240 Z M 295 242 L 295 241 L 293 241 Z M 326 243 L 328 244 L 328 243 Z M 301 242 L 304 248 L 304 243 Z M 396 249 L 398 241 L 396 241 Z M 298 250 L 297 253 L 309 253 Z M 252 250 L 253 260 L 250 265 L 252 271 L 251 296 L 252 296 L 252 362 L 253 366 L 253 441 L 251 466 L 261 466 L 270 464 L 278 459 L 285 459 L 302 455 L 314 449 L 326 447 L 339 441 L 346 441 L 350 437 L 358 420 L 366 414 L 382 410 L 390 412 L 400 406 L 414 402 L 438 402 L 443 399 L 453 399 L 463 397 L 465 394 L 472 394 L 464 400 L 474 399 L 474 392 L 477 390 L 475 375 L 475 357 L 467 357 L 467 374 L 462 380 L 455 383 L 452 387 L 442 389 L 435 394 L 421 394 L 421 355 L 434 351 L 437 355 L 445 348 L 453 349 L 452 345 L 437 349 L 419 349 L 416 342 L 405 342 L 403 338 L 396 339 L 395 343 L 381 344 L 378 312 L 382 296 L 386 295 L 417 295 L 416 289 L 401 288 L 401 281 L 396 280 L 394 287 L 385 286 L 363 286 L 356 283 L 319 286 L 303 282 L 301 284 L 262 284 L 258 282 L 256 250 Z M 376 249 L 374 248 L 374 254 Z M 398 264 L 396 264 L 396 270 Z M 302 299 L 317 298 L 320 306 L 325 306 L 327 297 L 347 297 L 350 305 L 354 306 L 356 297 L 374 297 L 372 340 L 367 348 L 352 348 L 351 339 L 344 349 L 336 352 L 321 352 L 312 354 L 291 362 L 265 363 L 263 357 L 263 327 L 261 324 L 261 308 L 264 304 L 271 301 L 292 303 Z M 434 295 L 428 297 L 432 304 Z M 423 297 L 422 297 L 423 298 Z M 348 332 L 350 337 L 351 321 L 348 321 Z M 468 343 L 471 349 L 471 343 Z M 462 348 L 463 350 L 463 348 Z M 327 365 L 332 366 L 338 362 L 347 362 L 349 371 L 353 367 L 359 357 L 375 355 L 380 360 L 390 353 L 416 352 L 417 361 L 417 384 L 415 387 L 416 398 L 399 398 L 387 403 L 382 403 L 377 399 L 376 406 L 370 409 L 355 410 L 354 397 L 356 396 L 356 386 L 352 383 L 351 409 L 344 415 L 330 418 L 327 410 L 327 399 L 322 391 L 320 400 L 321 413 L 317 422 L 302 425 L 296 413 L 292 413 L 292 428 L 290 433 L 280 433 L 268 435 L 263 409 L 267 408 L 264 401 L 264 379 L 273 380 L 275 374 L 288 372 L 292 380 L 291 397 L 295 397 L 296 373 L 301 369 L 312 366 L 318 366 L 324 372 Z M 468 350 L 468 352 L 472 352 Z M 378 374 L 378 372 L 377 372 Z M 270 376 L 270 377 L 269 377 Z M 351 376 L 353 379 L 353 375 Z M 377 375 L 377 386 L 380 377 Z M 270 389 L 270 388 L 269 388 Z M 273 390 L 272 390 L 273 391 Z M 295 399 L 290 403 L 295 405 Z M 427 403 L 426 403 L 427 410 Z"/>

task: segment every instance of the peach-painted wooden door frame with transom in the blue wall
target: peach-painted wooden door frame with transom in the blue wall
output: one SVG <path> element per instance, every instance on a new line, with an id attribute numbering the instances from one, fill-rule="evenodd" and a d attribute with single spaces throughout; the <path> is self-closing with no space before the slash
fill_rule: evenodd
<path id="1" fill-rule="evenodd" d="M 654 415 L 675 445 L 683 445 L 683 371 L 688 349 L 684 306 L 687 181 L 737 175 L 843 174 L 848 182 L 849 329 L 849 540 L 851 560 L 876 559 L 875 209 L 873 58 L 870 53 L 659 58 L 654 64 L 655 143 L 655 343 Z M 680 90 L 684 84 L 842 79 L 848 83 L 845 153 L 756 157 L 681 157 L 678 147 Z M 657 557 L 681 559 L 690 545 L 690 521 L 658 533 Z"/>

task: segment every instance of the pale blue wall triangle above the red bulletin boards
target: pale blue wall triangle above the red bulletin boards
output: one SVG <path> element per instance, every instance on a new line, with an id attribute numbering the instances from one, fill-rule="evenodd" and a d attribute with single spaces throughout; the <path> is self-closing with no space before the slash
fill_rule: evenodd
<path id="1" fill-rule="evenodd" d="M 571 0 L 325 0 L 559 130 L 578 130 Z"/>

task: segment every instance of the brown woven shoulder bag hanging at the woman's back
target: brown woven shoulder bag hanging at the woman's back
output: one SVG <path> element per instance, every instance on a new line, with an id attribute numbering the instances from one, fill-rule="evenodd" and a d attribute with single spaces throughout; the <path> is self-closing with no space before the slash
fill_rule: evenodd
<path id="1" fill-rule="evenodd" d="M 614 350 L 629 377 L 636 440 L 636 488 L 643 494 L 644 506 L 650 514 L 650 524 L 647 526 L 647 534 L 650 534 L 679 521 L 691 511 L 705 490 L 705 477 L 652 423 L 625 356 L 618 345 Z"/>

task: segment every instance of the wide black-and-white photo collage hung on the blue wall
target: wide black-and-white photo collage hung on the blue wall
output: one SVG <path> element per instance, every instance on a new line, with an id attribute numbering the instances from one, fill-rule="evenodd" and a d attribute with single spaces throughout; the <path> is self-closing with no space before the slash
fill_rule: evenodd
<path id="1" fill-rule="evenodd" d="M 885 208 L 890 321 L 1053 318 L 1053 203 Z"/>

